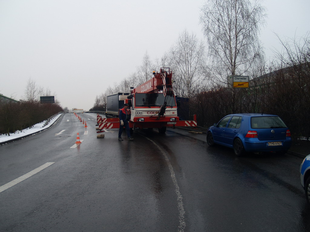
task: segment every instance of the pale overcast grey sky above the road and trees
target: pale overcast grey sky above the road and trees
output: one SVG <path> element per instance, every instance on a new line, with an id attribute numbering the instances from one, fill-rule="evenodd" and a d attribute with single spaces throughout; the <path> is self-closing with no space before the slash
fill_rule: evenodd
<path id="1" fill-rule="evenodd" d="M 0 93 L 21 99 L 29 78 L 63 107 L 89 110 L 96 95 L 152 61 L 187 29 L 203 39 L 204 0 L 0 0 Z M 309 0 L 265 0 L 267 59 L 280 37 L 305 35 Z"/>

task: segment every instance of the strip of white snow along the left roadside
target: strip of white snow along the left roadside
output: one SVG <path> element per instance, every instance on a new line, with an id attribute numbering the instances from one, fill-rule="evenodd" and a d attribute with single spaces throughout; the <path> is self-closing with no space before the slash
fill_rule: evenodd
<path id="1" fill-rule="evenodd" d="M 5 135 L 5 134 L 0 135 L 0 143 L 6 142 L 9 140 L 18 139 L 18 138 L 21 138 L 21 137 L 24 137 L 27 135 L 32 135 L 32 134 L 37 133 L 39 131 L 45 130 L 48 127 L 50 127 L 51 125 L 53 125 L 53 123 L 60 117 L 60 115 L 62 115 L 62 114 L 58 114 L 54 118 L 52 118 L 45 127 L 43 127 L 43 126 L 47 120 L 44 120 L 43 122 L 37 123 L 31 128 L 26 128 L 22 131 L 15 131 L 15 133 L 10 133 L 10 136 Z"/>

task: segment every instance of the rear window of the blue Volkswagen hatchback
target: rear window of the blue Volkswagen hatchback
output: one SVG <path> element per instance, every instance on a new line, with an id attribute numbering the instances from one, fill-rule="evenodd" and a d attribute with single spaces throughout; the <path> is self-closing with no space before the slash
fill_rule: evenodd
<path id="1" fill-rule="evenodd" d="M 251 118 L 251 127 L 253 129 L 286 128 L 286 125 L 282 119 L 277 116 L 261 116 Z"/>

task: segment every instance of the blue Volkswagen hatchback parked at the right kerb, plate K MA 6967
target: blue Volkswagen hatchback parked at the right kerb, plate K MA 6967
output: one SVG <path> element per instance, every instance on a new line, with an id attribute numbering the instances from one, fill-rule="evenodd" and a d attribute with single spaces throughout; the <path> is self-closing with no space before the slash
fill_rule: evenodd
<path id="1" fill-rule="evenodd" d="M 286 153 L 292 139 L 282 119 L 272 114 L 229 114 L 207 131 L 209 146 L 221 144 L 236 156 L 245 152 Z"/>

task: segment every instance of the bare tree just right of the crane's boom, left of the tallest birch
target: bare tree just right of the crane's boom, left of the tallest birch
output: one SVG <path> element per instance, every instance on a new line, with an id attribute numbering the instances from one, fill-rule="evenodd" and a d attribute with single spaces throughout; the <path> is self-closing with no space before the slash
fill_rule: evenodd
<path id="1" fill-rule="evenodd" d="M 180 97 L 191 97 L 203 80 L 205 51 L 195 34 L 184 30 L 170 49 L 170 66 L 174 72 L 174 92 Z"/>

